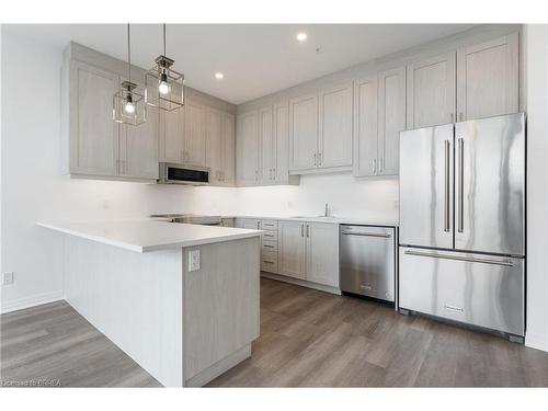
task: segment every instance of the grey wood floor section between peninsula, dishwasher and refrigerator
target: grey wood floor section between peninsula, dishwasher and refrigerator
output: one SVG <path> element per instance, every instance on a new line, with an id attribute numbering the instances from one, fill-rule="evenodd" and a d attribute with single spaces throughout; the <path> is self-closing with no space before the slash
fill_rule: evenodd
<path id="1" fill-rule="evenodd" d="M 548 386 L 548 353 L 262 278 L 253 355 L 209 386 Z"/>

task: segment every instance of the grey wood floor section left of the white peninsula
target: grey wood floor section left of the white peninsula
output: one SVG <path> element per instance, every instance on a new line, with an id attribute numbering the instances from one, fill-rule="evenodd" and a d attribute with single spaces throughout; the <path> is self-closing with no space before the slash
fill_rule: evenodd
<path id="1" fill-rule="evenodd" d="M 0 317 L 4 387 L 161 387 L 65 301 Z"/>

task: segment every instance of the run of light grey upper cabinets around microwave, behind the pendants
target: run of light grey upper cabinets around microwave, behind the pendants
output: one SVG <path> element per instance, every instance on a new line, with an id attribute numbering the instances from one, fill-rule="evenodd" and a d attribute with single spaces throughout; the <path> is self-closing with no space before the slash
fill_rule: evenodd
<path id="1" fill-rule="evenodd" d="M 64 55 L 61 141 L 71 178 L 156 182 L 159 162 L 206 165 L 212 184 L 236 184 L 233 105 L 195 90 L 172 112 L 147 107 L 138 126 L 113 119 L 113 98 L 126 80 L 125 62 L 70 43 Z M 145 71 L 132 68 L 144 95 Z M 156 85 L 153 85 L 156 87 Z M 218 109 L 217 109 L 218 107 Z"/>

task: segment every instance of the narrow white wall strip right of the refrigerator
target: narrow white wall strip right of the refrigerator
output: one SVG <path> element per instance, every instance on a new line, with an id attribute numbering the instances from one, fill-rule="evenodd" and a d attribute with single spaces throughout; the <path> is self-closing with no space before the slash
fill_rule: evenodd
<path id="1" fill-rule="evenodd" d="M 548 25 L 527 25 L 527 335 L 548 351 Z"/>

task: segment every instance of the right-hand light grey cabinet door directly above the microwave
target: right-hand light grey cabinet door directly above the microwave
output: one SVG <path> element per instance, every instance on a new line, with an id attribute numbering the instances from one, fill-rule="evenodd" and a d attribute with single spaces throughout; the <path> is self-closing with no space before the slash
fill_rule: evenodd
<path id="1" fill-rule="evenodd" d="M 183 162 L 191 165 L 206 164 L 206 106 L 186 99 L 184 121 L 185 152 Z"/>

